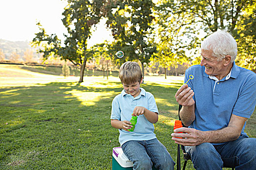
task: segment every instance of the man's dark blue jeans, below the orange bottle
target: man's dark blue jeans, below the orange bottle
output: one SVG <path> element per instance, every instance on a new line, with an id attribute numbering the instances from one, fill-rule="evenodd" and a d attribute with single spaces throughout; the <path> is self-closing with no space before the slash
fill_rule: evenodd
<path id="1" fill-rule="evenodd" d="M 185 146 L 196 170 L 222 170 L 223 166 L 236 170 L 256 170 L 256 138 L 240 137 L 222 145 L 202 143 Z"/>

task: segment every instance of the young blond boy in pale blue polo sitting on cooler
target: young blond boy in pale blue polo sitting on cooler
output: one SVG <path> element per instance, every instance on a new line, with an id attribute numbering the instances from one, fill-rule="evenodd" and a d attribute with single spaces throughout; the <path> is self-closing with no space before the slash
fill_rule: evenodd
<path id="1" fill-rule="evenodd" d="M 126 62 L 119 69 L 123 85 L 121 94 L 112 102 L 111 125 L 119 130 L 119 142 L 124 154 L 133 162 L 134 170 L 174 170 L 175 162 L 154 134 L 158 107 L 154 96 L 140 88 L 142 73 L 138 63 Z M 133 132 L 132 116 L 137 116 Z"/>

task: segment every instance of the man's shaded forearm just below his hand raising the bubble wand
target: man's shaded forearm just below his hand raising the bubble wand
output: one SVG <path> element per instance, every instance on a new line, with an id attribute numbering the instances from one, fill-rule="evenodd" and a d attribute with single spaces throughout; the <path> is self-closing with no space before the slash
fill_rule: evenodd
<path id="1" fill-rule="evenodd" d="M 195 104 L 192 106 L 182 106 L 179 116 L 185 126 L 191 125 L 195 120 Z"/>

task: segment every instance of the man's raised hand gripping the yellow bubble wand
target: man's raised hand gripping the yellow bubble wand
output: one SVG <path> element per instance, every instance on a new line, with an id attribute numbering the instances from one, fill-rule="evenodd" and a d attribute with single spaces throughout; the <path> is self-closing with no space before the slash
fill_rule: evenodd
<path id="1" fill-rule="evenodd" d="M 192 106 L 195 104 L 193 99 L 194 91 L 188 85 L 182 85 L 176 92 L 176 101 L 182 106 Z"/>

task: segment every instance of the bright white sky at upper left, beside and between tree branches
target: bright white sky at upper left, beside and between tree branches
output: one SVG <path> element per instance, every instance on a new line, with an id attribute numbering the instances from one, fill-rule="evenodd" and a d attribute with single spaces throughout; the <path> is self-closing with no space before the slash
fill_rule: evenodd
<path id="1" fill-rule="evenodd" d="M 47 34 L 57 34 L 63 40 L 66 29 L 62 24 L 65 0 L 0 0 L 0 39 L 32 41 L 39 33 L 38 22 Z M 102 21 L 88 45 L 111 40 L 111 32 Z"/>

